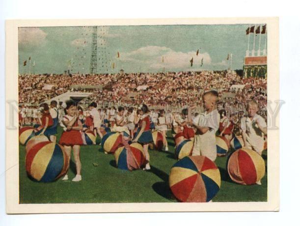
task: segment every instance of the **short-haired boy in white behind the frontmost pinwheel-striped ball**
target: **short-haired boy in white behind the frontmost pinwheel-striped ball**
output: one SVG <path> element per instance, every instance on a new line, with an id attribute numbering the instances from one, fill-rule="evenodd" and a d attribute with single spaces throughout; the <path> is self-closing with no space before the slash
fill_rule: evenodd
<path id="1" fill-rule="evenodd" d="M 220 114 L 217 110 L 218 92 L 211 90 L 202 96 L 205 112 L 198 114 L 191 120 L 191 110 L 189 108 L 189 121 L 196 128 L 192 155 L 206 156 L 212 161 L 217 158 L 216 132 L 219 128 Z"/>

